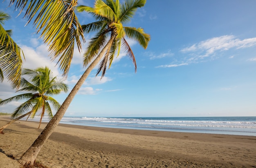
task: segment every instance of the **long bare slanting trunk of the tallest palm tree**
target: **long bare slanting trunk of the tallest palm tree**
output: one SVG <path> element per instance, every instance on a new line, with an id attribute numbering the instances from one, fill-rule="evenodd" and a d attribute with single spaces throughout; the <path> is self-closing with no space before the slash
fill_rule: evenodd
<path id="1" fill-rule="evenodd" d="M 53 133 L 54 129 L 58 125 L 58 123 L 61 121 L 62 117 L 64 116 L 68 106 L 72 102 L 73 98 L 75 97 L 76 93 L 79 91 L 79 88 L 83 85 L 86 78 L 92 71 L 92 69 L 99 63 L 103 55 L 105 54 L 106 50 L 111 46 L 114 36 L 111 36 L 110 40 L 106 44 L 106 46 L 101 50 L 99 55 L 96 57 L 96 59 L 88 66 L 86 71 L 83 73 L 79 81 L 76 83 L 70 94 L 67 96 L 57 113 L 54 115 L 54 117 L 50 120 L 50 122 L 47 124 L 45 129 L 42 131 L 42 133 L 38 136 L 38 138 L 34 141 L 34 143 L 30 146 L 30 148 L 20 157 L 19 161 L 21 164 L 24 165 L 34 165 L 34 161 L 42 148 L 45 141 L 49 138 L 49 136 Z"/>

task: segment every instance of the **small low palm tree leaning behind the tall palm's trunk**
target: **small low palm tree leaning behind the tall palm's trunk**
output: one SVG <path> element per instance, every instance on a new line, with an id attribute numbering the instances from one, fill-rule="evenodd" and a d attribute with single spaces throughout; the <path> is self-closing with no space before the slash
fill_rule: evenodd
<path id="1" fill-rule="evenodd" d="M 36 113 L 40 113 L 40 124 L 45 113 L 49 118 L 52 118 L 53 115 L 50 104 L 52 104 L 52 107 L 56 111 L 61 105 L 51 96 L 58 95 L 61 91 L 67 92 L 67 85 L 64 84 L 63 81 L 57 80 L 57 77 L 53 77 L 52 71 L 49 70 L 48 67 L 35 70 L 24 69 L 22 75 L 29 75 L 31 82 L 22 77 L 20 82 L 20 87 L 22 88 L 18 91 L 28 91 L 29 93 L 16 95 L 0 102 L 0 105 L 4 105 L 9 102 L 26 99 L 24 103 L 13 111 L 11 115 L 13 119 L 0 128 L 0 133 L 2 134 L 4 128 L 26 115 L 31 115 L 31 117 L 34 118 Z M 40 127 L 40 124 L 38 128 Z"/>

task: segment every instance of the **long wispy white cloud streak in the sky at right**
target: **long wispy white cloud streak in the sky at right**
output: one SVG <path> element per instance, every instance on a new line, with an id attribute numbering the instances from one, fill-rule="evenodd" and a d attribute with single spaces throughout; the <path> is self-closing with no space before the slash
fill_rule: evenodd
<path id="1" fill-rule="evenodd" d="M 220 37 L 210 38 L 195 44 L 191 44 L 180 50 L 183 57 L 175 57 L 172 63 L 167 65 L 160 65 L 157 68 L 170 68 L 182 65 L 189 65 L 203 61 L 216 59 L 221 52 L 229 51 L 231 49 L 244 49 L 256 46 L 256 38 L 247 38 L 241 40 L 234 35 L 223 35 Z M 163 55 L 154 55 L 150 59 L 160 58 Z M 229 56 L 234 58 L 234 55 Z M 250 59 L 256 61 L 256 58 Z"/>

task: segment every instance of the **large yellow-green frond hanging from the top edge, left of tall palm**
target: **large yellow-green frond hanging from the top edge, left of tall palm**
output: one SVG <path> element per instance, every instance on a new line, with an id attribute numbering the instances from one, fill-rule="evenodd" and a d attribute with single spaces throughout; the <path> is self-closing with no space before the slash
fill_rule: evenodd
<path id="1" fill-rule="evenodd" d="M 15 2 L 15 9 L 20 10 L 20 13 L 27 7 L 24 17 L 28 18 L 28 23 L 35 18 L 33 24 L 37 32 L 41 32 L 43 41 L 49 45 L 52 59 L 58 57 L 63 75 L 67 75 L 74 45 L 81 51 L 79 37 L 85 42 L 83 30 L 74 13 L 77 0 L 11 0 L 10 4 Z"/>

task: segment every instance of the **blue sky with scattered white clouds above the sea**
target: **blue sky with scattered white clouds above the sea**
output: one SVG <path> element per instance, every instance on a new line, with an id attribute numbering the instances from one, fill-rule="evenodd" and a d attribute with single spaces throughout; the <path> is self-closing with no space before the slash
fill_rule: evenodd
<path id="1" fill-rule="evenodd" d="M 4 28 L 13 30 L 12 38 L 25 53 L 23 67 L 47 65 L 61 78 L 33 25 L 24 27 L 23 15 L 16 17 L 18 11 L 7 6 L 7 1 L 0 6 L 12 16 Z M 256 116 L 255 7 L 255 0 L 148 0 L 128 24 L 151 35 L 146 50 L 129 40 L 137 73 L 121 53 L 102 80 L 92 71 L 65 116 Z M 81 24 L 94 21 L 87 13 L 77 15 Z M 92 36 L 85 35 L 86 41 Z M 65 81 L 70 90 L 84 71 L 76 49 Z M 0 84 L 0 98 L 16 94 L 7 81 Z M 62 93 L 55 98 L 62 103 L 66 97 Z M 0 111 L 11 113 L 19 104 L 1 106 Z"/>

